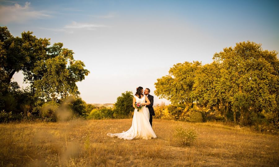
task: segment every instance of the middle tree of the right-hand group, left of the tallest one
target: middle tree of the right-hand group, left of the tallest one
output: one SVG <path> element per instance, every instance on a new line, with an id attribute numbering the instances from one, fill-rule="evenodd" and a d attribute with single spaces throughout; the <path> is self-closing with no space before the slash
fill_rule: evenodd
<path id="1" fill-rule="evenodd" d="M 215 61 L 202 66 L 194 79 L 193 96 L 197 105 L 215 109 L 228 120 L 232 113 L 229 101 L 232 92 L 226 91 L 231 88 L 226 84 L 229 80 L 221 77 L 221 71 L 222 64 Z"/>

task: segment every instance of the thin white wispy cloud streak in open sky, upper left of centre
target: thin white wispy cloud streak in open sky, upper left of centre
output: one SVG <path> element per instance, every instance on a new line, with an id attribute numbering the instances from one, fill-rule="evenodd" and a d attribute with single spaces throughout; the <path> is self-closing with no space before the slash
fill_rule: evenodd
<path id="1" fill-rule="evenodd" d="M 74 30 L 95 30 L 96 28 L 102 28 L 102 27 L 109 27 L 102 24 L 92 24 L 92 23 L 77 23 L 73 21 L 71 24 L 65 25 L 63 28 L 41 28 L 45 30 L 51 30 L 56 32 L 66 32 L 66 33 L 73 33 Z"/>

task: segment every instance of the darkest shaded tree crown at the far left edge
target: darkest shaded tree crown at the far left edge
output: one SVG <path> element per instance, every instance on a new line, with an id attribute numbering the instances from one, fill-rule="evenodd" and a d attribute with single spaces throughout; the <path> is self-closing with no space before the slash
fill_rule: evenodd
<path id="1" fill-rule="evenodd" d="M 35 62 L 50 58 L 47 54 L 50 39 L 36 38 L 33 32 L 22 32 L 21 37 L 13 37 L 7 27 L 0 27 L 1 68 L 6 72 L 6 83 L 11 82 L 15 72 L 30 74 Z"/>

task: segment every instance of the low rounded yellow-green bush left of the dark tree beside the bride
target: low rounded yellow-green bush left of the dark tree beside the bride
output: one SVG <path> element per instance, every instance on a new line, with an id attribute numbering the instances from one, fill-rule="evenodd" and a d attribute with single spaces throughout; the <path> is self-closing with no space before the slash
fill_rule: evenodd
<path id="1" fill-rule="evenodd" d="M 87 119 L 109 119 L 113 118 L 113 110 L 109 108 L 93 109 Z"/>

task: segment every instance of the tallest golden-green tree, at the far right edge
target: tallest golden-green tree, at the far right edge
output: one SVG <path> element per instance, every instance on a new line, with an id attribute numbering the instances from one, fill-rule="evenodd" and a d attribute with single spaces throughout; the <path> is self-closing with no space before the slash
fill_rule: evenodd
<path id="1" fill-rule="evenodd" d="M 235 121 L 236 113 L 240 112 L 241 125 L 248 123 L 252 112 L 277 114 L 277 54 L 247 41 L 214 55 L 214 60 L 222 65 L 220 85 L 226 88 L 223 93 L 232 105 Z"/>

